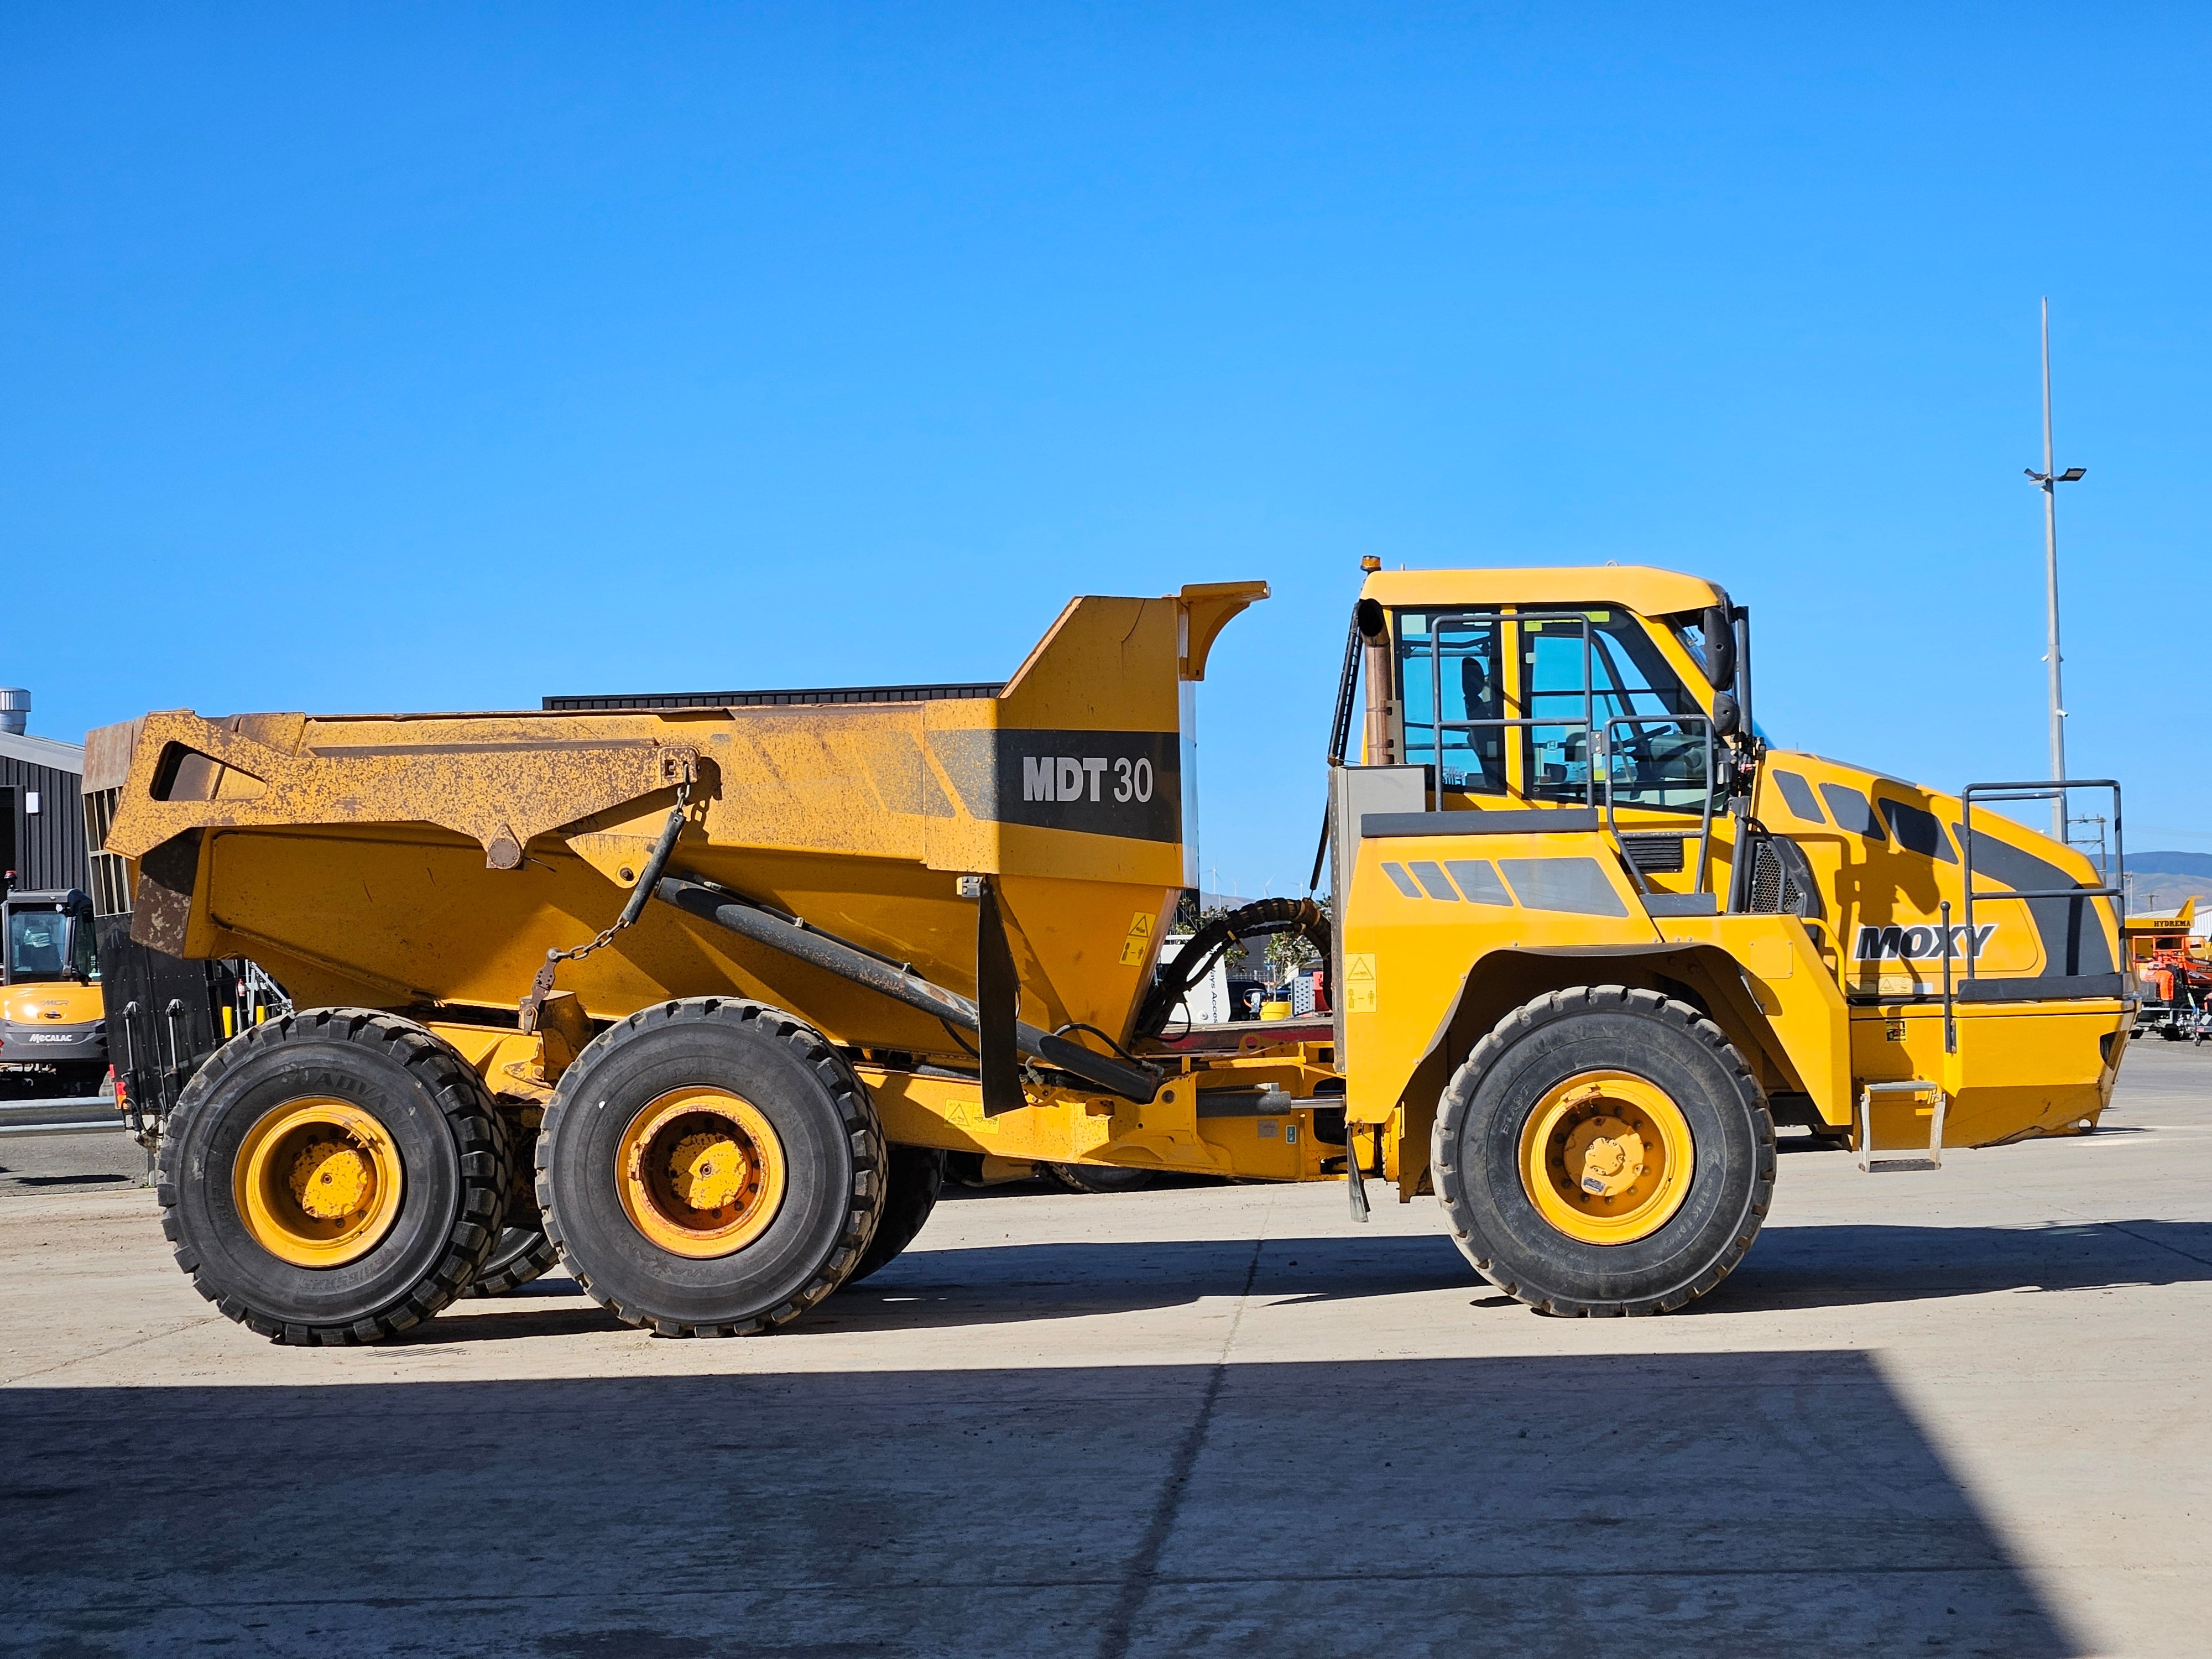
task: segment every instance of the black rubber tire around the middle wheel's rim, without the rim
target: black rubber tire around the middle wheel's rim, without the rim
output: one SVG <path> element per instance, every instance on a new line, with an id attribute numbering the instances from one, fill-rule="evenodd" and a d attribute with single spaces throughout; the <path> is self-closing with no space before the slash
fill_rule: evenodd
<path id="1" fill-rule="evenodd" d="M 648 1102 L 712 1084 L 752 1102 L 783 1141 L 776 1219 L 728 1256 L 677 1256 L 622 1208 L 615 1146 Z M 757 1336 L 836 1290 L 883 1212 L 883 1126 L 818 1031 L 761 1002 L 659 1002 L 602 1031 L 562 1075 L 538 1133 L 538 1206 L 575 1281 L 661 1336 Z"/>

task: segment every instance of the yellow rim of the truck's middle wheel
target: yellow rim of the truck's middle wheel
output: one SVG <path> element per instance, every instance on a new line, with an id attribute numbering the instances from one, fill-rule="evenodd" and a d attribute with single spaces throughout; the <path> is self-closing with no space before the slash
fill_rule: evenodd
<path id="1" fill-rule="evenodd" d="M 622 1130 L 622 1208 L 646 1239 L 706 1261 L 750 1245 L 783 1208 L 790 1166 L 774 1126 L 721 1088 L 675 1088 Z"/>

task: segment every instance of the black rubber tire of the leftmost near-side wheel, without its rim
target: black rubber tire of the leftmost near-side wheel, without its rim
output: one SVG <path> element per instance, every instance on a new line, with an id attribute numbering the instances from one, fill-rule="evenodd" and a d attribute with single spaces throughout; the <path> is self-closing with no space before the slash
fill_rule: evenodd
<path id="1" fill-rule="evenodd" d="M 392 1135 L 405 1181 L 392 1230 L 361 1261 L 296 1267 L 239 1219 L 230 1170 L 274 1106 L 330 1095 Z M 482 1270 L 504 1223 L 507 1126 L 442 1040 L 376 1009 L 310 1009 L 248 1026 L 177 1097 L 161 1137 L 161 1232 L 192 1287 L 279 1343 L 376 1343 L 445 1307 Z"/>

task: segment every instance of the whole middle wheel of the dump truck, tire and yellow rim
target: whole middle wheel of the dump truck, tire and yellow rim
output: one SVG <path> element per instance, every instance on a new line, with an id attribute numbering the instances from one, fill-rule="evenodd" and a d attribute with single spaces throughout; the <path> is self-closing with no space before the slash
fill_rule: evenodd
<path id="1" fill-rule="evenodd" d="M 661 1336 L 752 1336 L 818 1303 L 883 1212 L 876 1108 L 818 1031 L 728 998 L 604 1031 L 538 1133 L 546 1237 Z"/>

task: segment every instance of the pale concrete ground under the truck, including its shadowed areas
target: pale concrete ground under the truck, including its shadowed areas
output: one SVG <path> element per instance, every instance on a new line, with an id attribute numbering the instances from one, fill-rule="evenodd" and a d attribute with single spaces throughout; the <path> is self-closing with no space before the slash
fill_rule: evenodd
<path id="1" fill-rule="evenodd" d="M 0 1652 L 2197 1655 L 2208 1084 L 2146 1044 L 2088 1139 L 1790 1155 L 1734 1279 L 1604 1323 L 1427 1199 L 1024 1183 L 781 1336 L 549 1279 L 301 1352 L 135 1148 L 0 1144 Z"/>

